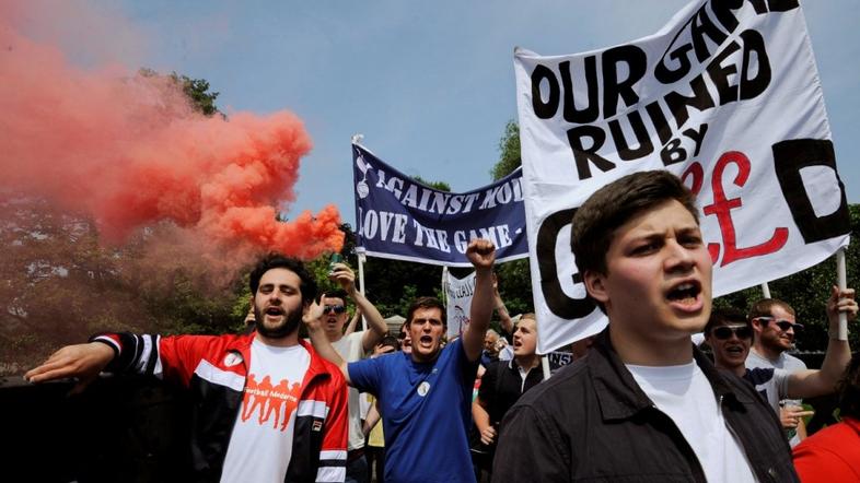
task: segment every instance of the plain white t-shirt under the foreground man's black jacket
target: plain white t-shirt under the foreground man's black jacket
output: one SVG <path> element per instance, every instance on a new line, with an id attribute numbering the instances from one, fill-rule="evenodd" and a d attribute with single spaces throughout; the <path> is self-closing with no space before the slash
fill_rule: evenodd
<path id="1" fill-rule="evenodd" d="M 656 408 L 678 427 L 708 481 L 756 481 L 746 455 L 725 424 L 708 378 L 695 362 L 627 368 Z"/>

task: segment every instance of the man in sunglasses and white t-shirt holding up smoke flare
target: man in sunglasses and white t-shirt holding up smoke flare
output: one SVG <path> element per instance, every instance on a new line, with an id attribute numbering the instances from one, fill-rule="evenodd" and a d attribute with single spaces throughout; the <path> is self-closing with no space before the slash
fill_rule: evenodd
<path id="1" fill-rule="evenodd" d="M 385 320 L 364 295 L 356 290 L 356 274 L 346 263 L 335 263 L 329 279 L 337 281 L 342 288 L 323 294 L 323 330 L 338 355 L 347 362 L 360 361 L 376 345 L 388 331 Z M 351 298 L 358 310 L 368 321 L 368 330 L 349 334 L 344 333 L 347 323 L 347 298 Z M 347 483 L 368 481 L 368 466 L 364 459 L 364 433 L 362 432 L 360 396 L 356 388 L 349 388 L 349 440 L 347 444 Z"/>

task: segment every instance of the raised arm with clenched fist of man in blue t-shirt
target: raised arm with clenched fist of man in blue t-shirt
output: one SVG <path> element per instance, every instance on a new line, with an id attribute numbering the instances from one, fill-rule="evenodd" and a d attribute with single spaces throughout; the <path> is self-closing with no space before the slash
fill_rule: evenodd
<path id="1" fill-rule="evenodd" d="M 463 351 L 469 361 L 477 361 L 484 346 L 484 334 L 492 317 L 492 264 L 496 247 L 487 239 L 473 239 L 466 257 L 475 267 L 475 293 L 472 296 L 469 325 L 463 332 Z"/>

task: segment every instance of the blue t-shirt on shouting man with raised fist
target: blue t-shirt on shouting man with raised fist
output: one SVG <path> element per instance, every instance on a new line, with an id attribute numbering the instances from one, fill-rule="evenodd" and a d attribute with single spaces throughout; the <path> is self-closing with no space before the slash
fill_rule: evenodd
<path id="1" fill-rule="evenodd" d="M 403 352 L 349 363 L 352 386 L 379 400 L 386 481 L 475 481 L 466 428 L 477 370 L 460 339 L 431 363 Z"/>

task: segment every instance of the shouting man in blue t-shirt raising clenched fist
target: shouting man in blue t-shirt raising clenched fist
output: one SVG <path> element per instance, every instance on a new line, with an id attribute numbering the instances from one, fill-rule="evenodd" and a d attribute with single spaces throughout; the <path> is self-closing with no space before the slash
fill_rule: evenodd
<path id="1" fill-rule="evenodd" d="M 474 482 L 466 431 L 472 389 L 492 316 L 492 264 L 496 248 L 474 239 L 466 249 L 475 267 L 470 323 L 457 340 L 442 346 L 445 307 L 418 298 L 407 314 L 412 352 L 346 363 L 322 330 L 319 307 L 304 321 L 314 349 L 340 367 L 347 382 L 379 401 L 385 427 L 385 480 Z"/>

